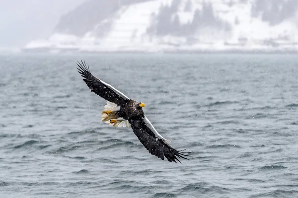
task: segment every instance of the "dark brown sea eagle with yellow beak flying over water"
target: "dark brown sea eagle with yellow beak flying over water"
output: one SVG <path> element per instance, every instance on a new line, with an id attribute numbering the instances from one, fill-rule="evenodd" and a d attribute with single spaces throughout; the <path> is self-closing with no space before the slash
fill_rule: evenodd
<path id="1" fill-rule="evenodd" d="M 89 65 L 81 61 L 77 63 L 78 72 L 92 92 L 107 100 L 101 112 L 101 120 L 114 127 L 131 127 L 145 148 L 156 157 L 170 162 L 179 161 L 178 158 L 187 159 L 188 153 L 172 148 L 169 140 L 163 138 L 152 126 L 145 116 L 145 104 L 136 102 L 108 83 L 94 77 Z M 178 158 L 177 158 L 178 157 Z M 180 162 L 180 161 L 179 161 Z M 177 163 L 177 162 L 176 162 Z M 181 163 L 181 162 L 180 162 Z"/>

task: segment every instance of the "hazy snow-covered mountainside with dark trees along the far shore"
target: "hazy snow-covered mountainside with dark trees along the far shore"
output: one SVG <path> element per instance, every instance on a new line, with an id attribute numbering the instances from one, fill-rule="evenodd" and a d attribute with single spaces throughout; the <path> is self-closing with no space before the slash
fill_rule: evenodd
<path id="1" fill-rule="evenodd" d="M 88 0 L 34 51 L 296 51 L 298 0 Z"/>

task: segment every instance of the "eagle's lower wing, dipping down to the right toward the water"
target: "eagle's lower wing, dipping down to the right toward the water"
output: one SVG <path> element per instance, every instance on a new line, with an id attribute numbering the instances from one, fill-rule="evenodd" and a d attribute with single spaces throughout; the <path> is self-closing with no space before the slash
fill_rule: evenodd
<path id="1" fill-rule="evenodd" d="M 137 135 L 137 137 L 149 151 L 149 153 L 162 160 L 164 160 L 164 158 L 167 158 L 167 160 L 170 162 L 176 162 L 176 160 L 180 162 L 178 158 L 187 159 L 186 157 L 190 156 L 187 155 L 190 152 L 181 152 L 172 148 L 164 140 L 164 138 L 161 137 L 161 135 L 159 135 L 158 133 L 157 135 L 153 130 L 150 129 L 151 126 L 149 128 L 145 120 L 148 119 L 144 117 L 144 119 L 130 120 L 129 123 L 131 124 L 133 132 Z"/>

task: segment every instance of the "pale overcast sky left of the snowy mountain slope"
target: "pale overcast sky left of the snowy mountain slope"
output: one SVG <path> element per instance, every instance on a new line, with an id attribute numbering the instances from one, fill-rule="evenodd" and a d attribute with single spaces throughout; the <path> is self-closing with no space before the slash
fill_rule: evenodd
<path id="1" fill-rule="evenodd" d="M 86 0 L 0 0 L 0 49 L 52 33 L 61 15 Z"/>

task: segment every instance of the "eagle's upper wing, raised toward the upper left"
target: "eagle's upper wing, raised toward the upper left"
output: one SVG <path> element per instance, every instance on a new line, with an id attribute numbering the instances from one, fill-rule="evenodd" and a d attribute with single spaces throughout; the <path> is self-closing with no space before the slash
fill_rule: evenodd
<path id="1" fill-rule="evenodd" d="M 129 97 L 118 91 L 110 84 L 94 77 L 90 72 L 89 65 L 86 65 L 85 62 L 77 62 L 76 65 L 79 67 L 77 68 L 78 72 L 84 77 L 83 80 L 92 92 L 110 102 L 117 104 L 118 106 L 129 100 Z"/>

